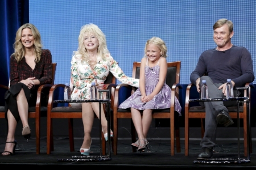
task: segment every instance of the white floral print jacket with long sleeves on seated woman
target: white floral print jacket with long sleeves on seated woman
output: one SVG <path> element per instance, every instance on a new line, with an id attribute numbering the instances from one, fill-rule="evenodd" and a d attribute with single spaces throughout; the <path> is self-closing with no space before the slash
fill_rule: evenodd
<path id="1" fill-rule="evenodd" d="M 74 87 L 71 99 L 90 99 L 91 83 L 104 84 L 109 71 L 119 82 L 139 87 L 139 79 L 126 76 L 110 54 L 106 55 L 105 60 L 98 57 L 93 70 L 88 63 L 82 61 L 81 55 L 75 55 L 71 60 L 71 83 Z"/>

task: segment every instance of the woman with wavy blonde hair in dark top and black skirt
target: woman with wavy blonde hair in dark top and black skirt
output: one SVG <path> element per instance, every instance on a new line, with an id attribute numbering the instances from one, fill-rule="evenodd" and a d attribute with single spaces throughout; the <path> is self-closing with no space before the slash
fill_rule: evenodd
<path id="1" fill-rule="evenodd" d="M 41 36 L 35 25 L 23 24 L 16 32 L 14 53 L 10 59 L 10 88 L 5 94 L 5 117 L 8 134 L 3 156 L 14 155 L 17 122 L 22 121 L 22 135 L 30 138 L 28 107 L 36 105 L 37 91 L 42 84 L 52 82 L 52 55 L 42 49 Z"/>

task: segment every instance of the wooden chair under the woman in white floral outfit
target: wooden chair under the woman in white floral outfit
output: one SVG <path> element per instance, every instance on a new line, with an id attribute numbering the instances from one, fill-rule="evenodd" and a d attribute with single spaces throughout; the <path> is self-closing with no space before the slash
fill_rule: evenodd
<path id="1" fill-rule="evenodd" d="M 110 100 L 113 101 L 114 89 L 116 86 L 116 78 L 111 72 L 104 84 L 106 84 L 105 90 L 110 91 Z M 68 118 L 68 129 L 69 129 L 69 148 L 70 151 L 75 151 L 74 148 L 74 136 L 73 136 L 73 118 L 82 118 L 82 108 L 81 107 L 72 107 L 70 104 L 68 107 L 56 107 L 56 104 L 53 104 L 53 94 L 60 87 L 64 88 L 64 84 L 55 84 L 52 86 L 49 92 L 49 101 L 48 101 L 48 111 L 47 111 L 47 154 L 51 154 L 51 151 L 54 151 L 53 147 L 53 129 L 52 129 L 52 118 Z M 113 111 L 113 102 L 110 104 L 110 108 Z M 111 112 L 111 111 L 110 111 Z M 111 113 L 110 113 L 111 114 Z M 96 114 L 95 117 L 97 118 Z M 102 133 L 102 155 L 106 154 L 106 141 L 104 134 Z"/>

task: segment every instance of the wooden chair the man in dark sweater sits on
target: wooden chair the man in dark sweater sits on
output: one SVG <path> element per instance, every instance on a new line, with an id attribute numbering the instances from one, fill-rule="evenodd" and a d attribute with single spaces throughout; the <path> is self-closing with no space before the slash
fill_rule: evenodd
<path id="1" fill-rule="evenodd" d="M 245 87 L 248 87 L 244 90 L 244 97 L 251 96 L 251 87 L 254 87 L 253 83 L 246 83 Z M 236 90 L 234 90 L 234 93 Z M 196 96 L 193 94 L 197 94 Z M 189 99 L 198 99 L 200 98 L 200 95 L 196 91 L 196 86 L 192 83 L 188 84 L 187 90 L 186 90 L 186 96 L 185 96 L 185 156 L 188 156 L 188 145 L 189 145 L 189 118 L 200 118 L 201 119 L 201 138 L 204 137 L 204 118 L 205 118 L 205 107 L 201 107 L 198 103 L 195 105 L 195 103 L 189 103 Z M 250 107 L 250 104 L 249 104 Z M 237 118 L 237 107 L 227 107 L 229 111 L 230 117 Z M 246 116 L 247 110 L 246 110 L 246 103 L 243 103 L 240 108 L 240 119 L 243 119 L 243 138 L 244 138 L 244 155 L 247 156 L 247 121 Z M 249 109 L 250 111 L 250 109 Z M 251 140 L 251 139 L 250 139 Z M 250 142 L 251 143 L 251 142 Z M 250 146 L 250 152 L 251 152 L 251 146 Z"/>

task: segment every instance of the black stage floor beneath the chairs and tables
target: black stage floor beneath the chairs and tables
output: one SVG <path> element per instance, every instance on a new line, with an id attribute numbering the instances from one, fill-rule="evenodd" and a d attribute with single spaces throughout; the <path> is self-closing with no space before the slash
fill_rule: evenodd
<path id="1" fill-rule="evenodd" d="M 0 138 L 0 151 L 5 148 L 6 137 Z M 20 135 L 16 137 L 18 145 L 16 147 L 14 156 L 0 156 L 0 166 L 11 165 L 22 168 L 31 168 L 31 166 L 38 167 L 61 167 L 63 165 L 70 166 L 83 166 L 83 168 L 122 168 L 130 167 L 135 169 L 144 168 L 212 168 L 212 167 L 225 167 L 225 168 L 256 168 L 255 148 L 256 141 L 253 140 L 253 153 L 250 155 L 250 163 L 222 163 L 222 164 L 197 164 L 194 160 L 201 152 L 200 139 L 193 139 L 189 142 L 189 156 L 184 155 L 184 139 L 181 139 L 181 152 L 176 152 L 171 156 L 170 153 L 170 139 L 166 138 L 148 138 L 150 150 L 145 152 L 132 152 L 131 139 L 119 139 L 118 141 L 118 154 L 111 153 L 111 160 L 106 161 L 93 161 L 93 162 L 59 162 L 58 159 L 73 159 L 72 156 L 80 155 L 80 146 L 82 139 L 75 139 L 75 152 L 69 151 L 68 138 L 55 138 L 54 147 L 55 151 L 50 155 L 46 154 L 46 138 L 41 139 L 40 154 L 36 155 L 35 139 L 31 138 L 28 143 Z M 243 141 L 240 142 L 240 158 L 243 156 Z M 100 155 L 100 141 L 98 138 L 92 139 L 92 146 L 90 149 L 90 156 Z M 217 147 L 213 153 L 213 158 L 238 158 L 238 145 L 237 139 L 217 139 Z M 65 167 L 63 167 L 65 168 Z"/>

